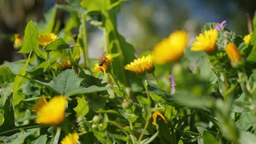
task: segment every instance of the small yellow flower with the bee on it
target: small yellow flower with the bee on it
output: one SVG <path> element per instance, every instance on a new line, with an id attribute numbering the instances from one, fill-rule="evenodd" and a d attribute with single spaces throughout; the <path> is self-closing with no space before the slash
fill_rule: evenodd
<path id="1" fill-rule="evenodd" d="M 112 56 L 108 54 L 107 57 L 103 58 L 103 64 L 101 66 L 98 65 L 98 63 L 95 64 L 94 68 L 92 68 L 92 72 L 102 71 L 102 73 L 108 73 L 111 70 L 111 62 L 113 61 Z"/>

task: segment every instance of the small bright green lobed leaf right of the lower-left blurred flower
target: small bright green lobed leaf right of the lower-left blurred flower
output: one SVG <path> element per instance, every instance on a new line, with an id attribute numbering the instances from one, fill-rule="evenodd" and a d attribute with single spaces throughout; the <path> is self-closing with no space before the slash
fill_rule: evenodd
<path id="1" fill-rule="evenodd" d="M 77 99 L 77 107 L 74 108 L 74 111 L 77 113 L 75 116 L 84 117 L 86 113 L 89 112 L 89 106 L 86 104 L 85 98 L 81 97 Z"/>

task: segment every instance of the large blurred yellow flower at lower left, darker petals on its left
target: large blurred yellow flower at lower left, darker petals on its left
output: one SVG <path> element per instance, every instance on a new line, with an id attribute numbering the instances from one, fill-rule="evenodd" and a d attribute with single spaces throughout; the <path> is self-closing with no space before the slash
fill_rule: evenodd
<path id="1" fill-rule="evenodd" d="M 38 103 L 33 107 L 34 111 L 38 111 L 36 123 L 58 125 L 63 122 L 66 101 L 63 95 L 50 99 L 49 103 L 44 96 L 40 98 Z"/>

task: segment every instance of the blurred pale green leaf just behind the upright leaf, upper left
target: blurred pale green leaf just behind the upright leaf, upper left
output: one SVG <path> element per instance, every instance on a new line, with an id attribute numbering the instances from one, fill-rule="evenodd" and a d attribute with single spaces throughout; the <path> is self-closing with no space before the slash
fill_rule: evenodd
<path id="1" fill-rule="evenodd" d="M 44 21 L 40 21 L 37 25 L 40 34 L 48 34 L 53 32 L 57 8 L 53 7 L 44 14 Z"/>

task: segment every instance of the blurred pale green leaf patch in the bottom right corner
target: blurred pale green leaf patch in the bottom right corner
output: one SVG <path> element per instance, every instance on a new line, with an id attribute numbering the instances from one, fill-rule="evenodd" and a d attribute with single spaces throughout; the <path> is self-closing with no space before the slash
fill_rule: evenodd
<path id="1" fill-rule="evenodd" d="M 256 136 L 248 131 L 240 131 L 239 143 L 254 144 Z"/>

